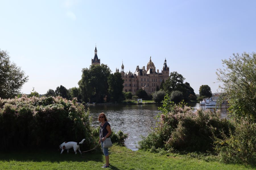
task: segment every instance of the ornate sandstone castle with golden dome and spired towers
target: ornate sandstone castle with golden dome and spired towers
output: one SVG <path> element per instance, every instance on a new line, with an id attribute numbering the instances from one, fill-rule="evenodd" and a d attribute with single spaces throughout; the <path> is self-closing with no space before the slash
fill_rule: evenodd
<path id="1" fill-rule="evenodd" d="M 98 59 L 96 47 L 94 52 L 95 54 L 94 59 L 92 59 L 92 64 L 98 65 L 100 64 L 100 59 Z M 116 72 L 119 72 L 119 69 L 116 69 Z M 165 59 L 161 73 L 159 73 L 159 69 L 157 69 L 156 72 L 156 67 L 150 57 L 146 69 L 145 66 L 140 69 L 137 65 L 134 73 L 131 73 L 131 71 L 129 71 L 129 73 L 125 73 L 124 65 L 122 63 L 120 73 L 124 80 L 124 92 L 132 92 L 132 94 L 135 94 L 137 90 L 142 88 L 147 94 L 152 94 L 156 91 L 157 86 L 160 88 L 161 83 L 169 78 L 169 67 L 167 67 Z"/>

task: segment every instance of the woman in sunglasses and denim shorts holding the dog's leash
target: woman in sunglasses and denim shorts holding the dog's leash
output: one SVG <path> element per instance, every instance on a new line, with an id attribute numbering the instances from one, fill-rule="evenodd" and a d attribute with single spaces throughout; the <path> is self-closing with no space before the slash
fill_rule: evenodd
<path id="1" fill-rule="evenodd" d="M 100 139 L 99 143 L 101 143 L 102 151 L 105 155 L 106 165 L 102 168 L 109 167 L 109 156 L 108 156 L 108 148 L 103 147 L 103 141 L 105 141 L 111 135 L 111 128 L 110 124 L 108 123 L 108 119 L 104 113 L 101 113 L 98 117 L 100 123 Z"/>

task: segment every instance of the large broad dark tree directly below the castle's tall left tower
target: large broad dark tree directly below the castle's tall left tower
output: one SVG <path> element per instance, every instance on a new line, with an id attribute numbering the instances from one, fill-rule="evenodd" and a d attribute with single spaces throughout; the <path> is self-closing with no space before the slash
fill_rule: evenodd
<path id="1" fill-rule="evenodd" d="M 91 65 L 82 69 L 82 78 L 78 85 L 81 89 L 82 101 L 102 102 L 108 95 L 108 77 L 111 70 L 105 64 Z"/>

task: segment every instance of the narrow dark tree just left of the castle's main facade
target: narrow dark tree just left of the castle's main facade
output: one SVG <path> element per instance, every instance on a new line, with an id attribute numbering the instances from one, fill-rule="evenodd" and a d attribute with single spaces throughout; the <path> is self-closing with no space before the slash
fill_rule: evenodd
<path id="1" fill-rule="evenodd" d="M 124 99 L 123 96 L 123 82 L 121 73 L 115 72 L 110 74 L 108 77 L 108 92 L 110 94 L 110 99 L 112 102 L 121 102 Z"/>

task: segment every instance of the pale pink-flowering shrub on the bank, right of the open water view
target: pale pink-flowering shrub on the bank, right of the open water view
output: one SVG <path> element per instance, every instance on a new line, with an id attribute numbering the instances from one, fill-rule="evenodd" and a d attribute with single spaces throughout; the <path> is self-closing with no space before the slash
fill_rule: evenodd
<path id="1" fill-rule="evenodd" d="M 219 112 L 194 112 L 182 102 L 171 102 L 165 96 L 163 107 L 159 110 L 157 127 L 139 141 L 140 149 L 163 148 L 165 150 L 179 151 L 212 151 L 214 137 L 222 138 L 222 133 L 229 135 L 232 124 L 220 118 Z"/>

